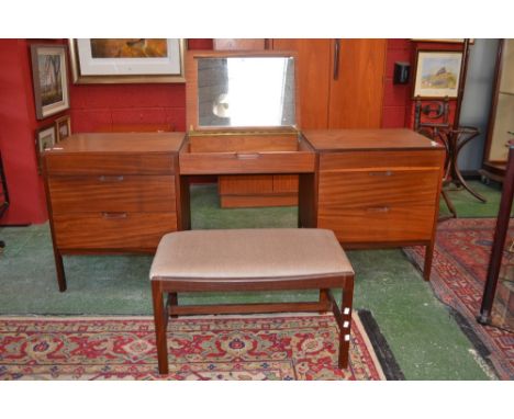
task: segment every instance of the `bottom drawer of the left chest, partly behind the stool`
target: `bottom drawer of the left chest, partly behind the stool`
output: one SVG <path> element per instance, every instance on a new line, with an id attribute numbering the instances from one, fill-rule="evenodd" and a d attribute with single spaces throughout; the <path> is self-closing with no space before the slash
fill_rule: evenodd
<path id="1" fill-rule="evenodd" d="M 176 213 L 86 213 L 54 215 L 59 249 L 155 250 L 177 230 Z"/>

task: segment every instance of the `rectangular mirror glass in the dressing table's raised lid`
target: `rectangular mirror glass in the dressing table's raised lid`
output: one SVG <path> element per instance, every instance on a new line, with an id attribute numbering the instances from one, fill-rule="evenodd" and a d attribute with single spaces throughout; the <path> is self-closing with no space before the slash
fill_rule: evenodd
<path id="1" fill-rule="evenodd" d="M 294 59 L 198 58 L 199 126 L 295 125 Z"/>

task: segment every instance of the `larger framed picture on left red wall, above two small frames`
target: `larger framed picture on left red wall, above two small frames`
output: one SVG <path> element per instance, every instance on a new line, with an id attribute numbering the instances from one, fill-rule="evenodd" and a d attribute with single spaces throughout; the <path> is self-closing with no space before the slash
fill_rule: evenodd
<path id="1" fill-rule="evenodd" d="M 37 120 L 69 107 L 66 46 L 31 45 L 32 80 Z"/>

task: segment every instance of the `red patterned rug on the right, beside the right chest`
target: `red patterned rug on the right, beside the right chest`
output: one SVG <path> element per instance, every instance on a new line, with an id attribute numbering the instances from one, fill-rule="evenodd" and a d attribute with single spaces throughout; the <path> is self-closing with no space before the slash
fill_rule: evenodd
<path id="1" fill-rule="evenodd" d="M 451 307 L 462 331 L 473 341 L 501 380 L 514 380 L 514 333 L 482 326 L 480 313 L 495 218 L 457 218 L 440 223 L 431 285 L 437 297 Z M 511 227 L 510 237 L 514 236 Z M 421 269 L 424 248 L 405 249 Z"/>

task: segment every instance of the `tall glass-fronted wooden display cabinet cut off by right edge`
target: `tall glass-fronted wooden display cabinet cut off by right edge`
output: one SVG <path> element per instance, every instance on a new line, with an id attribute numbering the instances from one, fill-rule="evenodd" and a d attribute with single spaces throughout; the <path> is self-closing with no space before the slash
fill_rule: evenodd
<path id="1" fill-rule="evenodd" d="M 509 156 L 507 143 L 514 138 L 514 39 L 501 39 L 496 81 L 489 117 L 482 174 L 502 181 Z"/>

